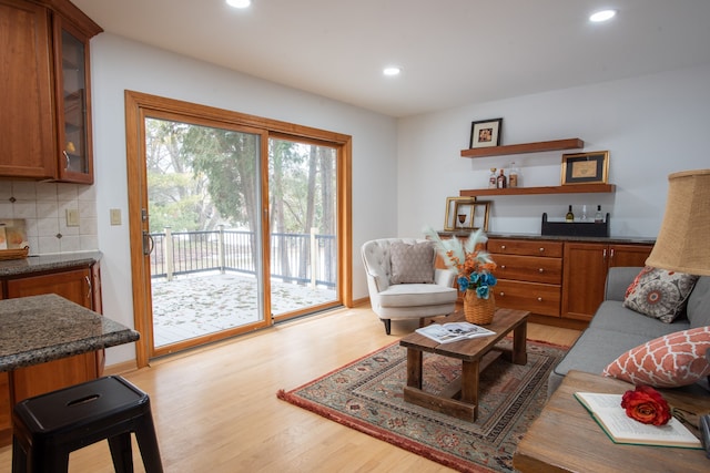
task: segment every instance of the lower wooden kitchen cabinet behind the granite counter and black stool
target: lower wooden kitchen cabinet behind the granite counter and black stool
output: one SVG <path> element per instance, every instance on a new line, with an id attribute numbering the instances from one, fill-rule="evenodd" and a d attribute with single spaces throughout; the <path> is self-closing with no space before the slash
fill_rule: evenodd
<path id="1" fill-rule="evenodd" d="M 90 267 L 43 271 L 0 279 L 4 298 L 57 294 L 94 311 L 101 310 L 99 263 Z M 0 373 L 0 444 L 7 443 L 14 403 L 67 385 L 95 379 L 104 366 L 102 351 L 77 354 Z M 2 434 L 4 433 L 4 434 Z"/>

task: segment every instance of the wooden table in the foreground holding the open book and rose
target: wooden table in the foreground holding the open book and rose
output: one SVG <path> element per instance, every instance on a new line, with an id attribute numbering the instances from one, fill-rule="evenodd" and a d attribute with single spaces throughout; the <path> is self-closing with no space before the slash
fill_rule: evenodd
<path id="1" fill-rule="evenodd" d="M 520 472 L 701 472 L 710 471 L 703 450 L 622 445 L 611 442 L 574 398 L 577 391 L 622 394 L 632 384 L 570 371 L 518 443 L 513 466 Z M 710 412 L 710 397 L 659 390 L 672 407 Z M 690 419 L 689 419 L 690 420 Z"/>

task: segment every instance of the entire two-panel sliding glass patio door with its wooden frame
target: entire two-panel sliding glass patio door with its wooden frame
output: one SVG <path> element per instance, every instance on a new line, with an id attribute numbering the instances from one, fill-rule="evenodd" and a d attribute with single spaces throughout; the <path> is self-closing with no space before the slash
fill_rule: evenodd
<path id="1" fill-rule="evenodd" d="M 349 136 L 125 99 L 139 368 L 352 305 Z"/>

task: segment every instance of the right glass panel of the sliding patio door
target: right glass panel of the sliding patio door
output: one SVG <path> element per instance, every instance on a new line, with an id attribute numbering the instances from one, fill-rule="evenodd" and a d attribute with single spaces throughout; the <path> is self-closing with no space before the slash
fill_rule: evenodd
<path id="1" fill-rule="evenodd" d="M 270 138 L 271 307 L 277 320 L 338 300 L 336 175 L 334 146 Z"/>

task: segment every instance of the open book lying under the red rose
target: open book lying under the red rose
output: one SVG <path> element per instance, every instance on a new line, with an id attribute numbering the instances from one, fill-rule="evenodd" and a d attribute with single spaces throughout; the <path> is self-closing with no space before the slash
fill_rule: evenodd
<path id="1" fill-rule="evenodd" d="M 643 424 L 629 418 L 621 408 L 621 394 L 576 392 L 575 398 L 615 443 L 702 449 L 700 440 L 676 418 L 666 425 Z"/>

